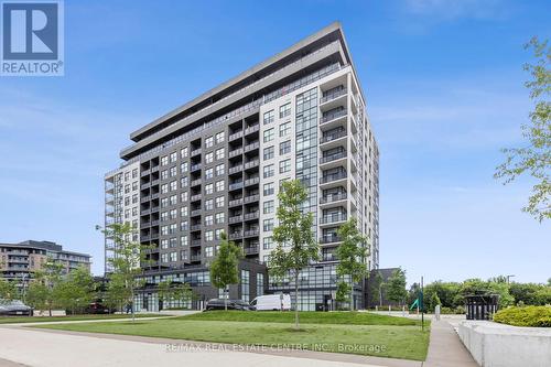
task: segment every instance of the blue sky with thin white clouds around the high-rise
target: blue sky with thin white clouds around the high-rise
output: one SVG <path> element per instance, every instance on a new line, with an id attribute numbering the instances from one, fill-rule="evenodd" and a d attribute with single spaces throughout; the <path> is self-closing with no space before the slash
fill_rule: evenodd
<path id="1" fill-rule="evenodd" d="M 381 151 L 381 267 L 410 282 L 551 277 L 521 144 L 521 65 L 548 1 L 65 1 L 65 76 L 0 77 L 0 241 L 47 239 L 102 271 L 104 173 L 129 133 L 339 20 Z"/>

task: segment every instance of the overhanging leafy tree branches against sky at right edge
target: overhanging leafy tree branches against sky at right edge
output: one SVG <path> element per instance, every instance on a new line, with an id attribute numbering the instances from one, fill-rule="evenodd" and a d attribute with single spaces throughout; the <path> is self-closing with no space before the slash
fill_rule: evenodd
<path id="1" fill-rule="evenodd" d="M 505 184 L 522 174 L 536 179 L 528 205 L 522 211 L 542 222 L 551 218 L 551 48 L 548 40 L 540 42 L 538 37 L 531 39 L 526 45 L 526 48 L 530 47 L 538 62 L 525 65 L 525 71 L 532 77 L 525 85 L 530 89 L 530 98 L 536 104 L 530 112 L 530 123 L 522 125 L 522 136 L 528 142 L 523 148 L 504 149 L 507 159 L 496 169 L 494 176 L 505 180 Z"/>

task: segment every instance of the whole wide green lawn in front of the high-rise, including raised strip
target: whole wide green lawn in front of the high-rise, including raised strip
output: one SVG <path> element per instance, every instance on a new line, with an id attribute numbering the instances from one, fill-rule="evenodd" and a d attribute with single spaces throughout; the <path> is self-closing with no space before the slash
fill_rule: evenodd
<path id="1" fill-rule="evenodd" d="M 332 314 L 335 316 L 333 321 L 327 319 Z M 278 316 L 282 319 L 277 319 Z M 414 325 L 411 320 L 364 313 L 301 313 L 301 316 L 304 324 L 300 332 L 292 328 L 292 313 L 279 312 L 205 312 L 164 320 L 140 320 L 134 323 L 125 321 L 34 327 L 264 345 L 270 348 L 278 344 L 294 347 L 300 345 L 305 349 L 415 360 L 424 360 L 426 356 L 429 332 L 421 332 L 421 327 Z M 238 321 L 227 321 L 230 319 Z M 406 325 L 397 325 L 400 322 Z"/>

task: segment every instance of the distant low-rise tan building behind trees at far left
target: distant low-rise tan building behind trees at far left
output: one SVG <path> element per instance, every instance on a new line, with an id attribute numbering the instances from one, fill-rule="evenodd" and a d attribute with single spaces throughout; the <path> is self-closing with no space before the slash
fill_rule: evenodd
<path id="1" fill-rule="evenodd" d="M 23 287 L 48 259 L 62 263 L 65 273 L 80 266 L 90 270 L 89 255 L 64 250 L 51 241 L 26 240 L 0 244 L 0 277 Z"/>

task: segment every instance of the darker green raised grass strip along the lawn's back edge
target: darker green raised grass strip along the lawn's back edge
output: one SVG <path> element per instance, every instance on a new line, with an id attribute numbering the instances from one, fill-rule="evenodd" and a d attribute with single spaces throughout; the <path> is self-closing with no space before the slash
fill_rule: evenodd
<path id="1" fill-rule="evenodd" d="M 201 312 L 180 320 L 240 321 L 262 323 L 294 323 L 294 312 L 261 311 L 212 311 Z M 349 324 L 349 325 L 421 325 L 420 321 L 375 314 L 370 312 L 300 312 L 302 324 Z M 426 324 L 426 322 L 425 322 Z"/>

